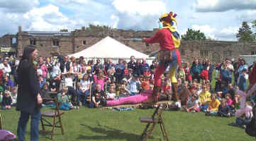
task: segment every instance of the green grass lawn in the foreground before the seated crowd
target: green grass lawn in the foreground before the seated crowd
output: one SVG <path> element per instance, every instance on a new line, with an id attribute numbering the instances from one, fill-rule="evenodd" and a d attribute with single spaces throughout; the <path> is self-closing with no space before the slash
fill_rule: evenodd
<path id="1" fill-rule="evenodd" d="M 43 109 L 43 111 L 45 111 Z M 63 123 L 65 135 L 57 128 L 54 140 L 139 140 L 145 128 L 140 123 L 140 116 L 150 116 L 153 109 L 135 109 L 133 111 L 112 111 L 109 109 L 88 109 L 65 111 Z M 4 129 L 16 134 L 18 111 L 1 111 Z M 228 125 L 235 118 L 204 116 L 203 113 L 186 113 L 183 111 L 164 111 L 163 119 L 169 140 L 255 140 L 246 135 L 242 128 Z M 29 136 L 27 129 L 27 140 Z M 50 140 L 50 135 L 40 135 L 40 140 Z M 150 140 L 162 140 L 160 126 L 157 125 Z"/>

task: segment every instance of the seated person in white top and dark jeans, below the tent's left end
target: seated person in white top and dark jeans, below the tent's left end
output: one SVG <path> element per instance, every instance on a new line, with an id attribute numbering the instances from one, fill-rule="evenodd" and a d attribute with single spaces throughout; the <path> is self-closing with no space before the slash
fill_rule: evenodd
<path id="1" fill-rule="evenodd" d="M 89 75 L 87 74 L 84 74 L 83 78 L 78 83 L 79 90 L 77 91 L 77 102 L 79 102 L 80 106 L 82 106 L 82 104 L 85 105 L 86 103 L 87 96 L 90 92 L 91 83 L 92 82 L 89 80 Z"/>

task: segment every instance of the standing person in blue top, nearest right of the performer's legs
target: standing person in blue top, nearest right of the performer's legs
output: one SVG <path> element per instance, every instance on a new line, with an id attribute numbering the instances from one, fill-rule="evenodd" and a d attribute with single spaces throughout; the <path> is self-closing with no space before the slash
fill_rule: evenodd
<path id="1" fill-rule="evenodd" d="M 196 79 L 200 82 L 201 77 L 201 71 L 203 67 L 201 66 L 201 63 L 199 63 L 199 59 L 194 59 L 194 63 L 191 66 L 190 74 L 192 75 L 192 80 Z"/>

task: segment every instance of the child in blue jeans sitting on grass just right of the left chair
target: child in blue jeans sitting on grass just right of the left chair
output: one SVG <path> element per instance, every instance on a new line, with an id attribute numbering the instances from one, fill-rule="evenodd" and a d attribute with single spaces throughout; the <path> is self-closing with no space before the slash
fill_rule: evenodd
<path id="1" fill-rule="evenodd" d="M 67 96 L 67 87 L 63 87 L 62 92 L 57 94 L 57 102 L 60 104 L 60 110 L 69 110 L 69 109 L 77 109 L 77 107 L 72 106 L 71 102 L 69 102 L 69 97 Z"/>

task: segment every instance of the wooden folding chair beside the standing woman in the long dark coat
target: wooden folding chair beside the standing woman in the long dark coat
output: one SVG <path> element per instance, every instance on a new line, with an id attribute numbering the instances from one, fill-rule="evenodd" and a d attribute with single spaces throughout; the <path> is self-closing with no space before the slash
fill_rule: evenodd
<path id="1" fill-rule="evenodd" d="M 50 133 L 51 134 L 50 139 L 52 140 L 55 128 L 61 128 L 62 135 L 64 135 L 64 128 L 63 128 L 62 121 L 61 121 L 61 116 L 62 116 L 62 114 L 64 114 L 64 112 L 60 112 L 60 110 L 59 110 L 60 104 L 58 104 L 58 102 L 57 102 L 56 93 L 54 94 L 54 92 L 51 92 L 51 94 L 53 95 L 52 99 L 43 99 L 43 100 L 55 102 L 55 109 L 54 109 L 54 111 L 45 111 L 44 113 L 41 114 L 40 121 L 41 121 L 41 125 L 42 125 L 42 130 L 40 130 L 40 131 L 43 133 Z M 53 120 L 52 123 L 50 121 L 48 121 L 49 120 L 48 118 L 52 118 L 52 120 Z M 52 127 L 52 129 L 50 131 L 45 130 L 45 126 Z"/>

